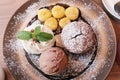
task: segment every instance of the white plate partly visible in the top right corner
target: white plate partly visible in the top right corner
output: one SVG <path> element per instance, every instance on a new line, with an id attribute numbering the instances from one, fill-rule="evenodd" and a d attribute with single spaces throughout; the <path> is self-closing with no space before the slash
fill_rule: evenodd
<path id="1" fill-rule="evenodd" d="M 105 7 L 106 11 L 116 20 L 120 21 L 120 16 L 114 9 L 114 5 L 117 2 L 119 2 L 119 0 L 102 0 L 103 6 Z"/>

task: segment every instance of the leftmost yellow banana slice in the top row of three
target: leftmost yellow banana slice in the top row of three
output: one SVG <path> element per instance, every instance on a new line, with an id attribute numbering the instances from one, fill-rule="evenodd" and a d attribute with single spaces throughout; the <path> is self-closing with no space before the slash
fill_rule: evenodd
<path id="1" fill-rule="evenodd" d="M 52 13 L 48 9 L 40 9 L 38 11 L 38 19 L 40 21 L 45 21 L 52 16 Z"/>

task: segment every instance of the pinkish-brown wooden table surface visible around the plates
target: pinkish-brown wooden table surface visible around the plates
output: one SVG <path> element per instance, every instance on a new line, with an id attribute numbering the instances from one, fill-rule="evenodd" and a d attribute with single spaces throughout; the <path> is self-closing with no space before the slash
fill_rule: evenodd
<path id="1" fill-rule="evenodd" d="M 0 1 L 0 67 L 4 68 L 7 74 L 7 78 L 8 78 L 7 80 L 13 80 L 13 79 L 11 78 L 11 75 L 8 73 L 7 67 L 5 66 L 5 63 L 3 61 L 3 54 L 2 54 L 3 34 L 4 34 L 5 28 L 11 16 L 26 1 L 27 0 L 2 0 Z M 101 0 L 94 0 L 94 1 L 103 8 L 101 4 Z M 114 21 L 112 18 L 111 18 L 111 22 L 116 32 L 117 41 L 120 41 L 120 23 Z M 117 64 L 116 61 L 106 80 L 120 80 L 120 66 Z"/>

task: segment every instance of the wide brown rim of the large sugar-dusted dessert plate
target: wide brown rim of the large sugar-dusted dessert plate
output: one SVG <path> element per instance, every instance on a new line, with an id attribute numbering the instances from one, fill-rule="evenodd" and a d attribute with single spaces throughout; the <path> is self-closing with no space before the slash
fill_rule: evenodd
<path id="1" fill-rule="evenodd" d="M 96 56 L 92 64 L 73 80 L 104 80 L 115 60 L 116 36 L 105 12 L 90 0 L 30 0 L 21 6 L 9 21 L 4 34 L 3 55 L 10 72 L 15 80 L 49 80 L 28 60 L 16 34 L 23 30 L 31 19 L 34 21 L 33 17 L 39 8 L 58 3 L 78 7 L 97 39 Z"/>

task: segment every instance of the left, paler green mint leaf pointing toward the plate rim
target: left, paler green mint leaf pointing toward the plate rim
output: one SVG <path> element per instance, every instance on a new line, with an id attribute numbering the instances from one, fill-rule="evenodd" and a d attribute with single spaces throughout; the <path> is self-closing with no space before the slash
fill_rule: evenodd
<path id="1" fill-rule="evenodd" d="M 22 40 L 29 40 L 32 38 L 32 33 L 29 31 L 21 31 L 17 33 L 17 38 Z"/>

